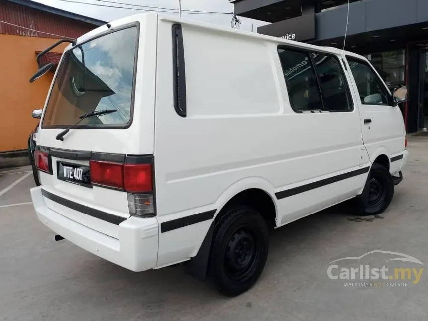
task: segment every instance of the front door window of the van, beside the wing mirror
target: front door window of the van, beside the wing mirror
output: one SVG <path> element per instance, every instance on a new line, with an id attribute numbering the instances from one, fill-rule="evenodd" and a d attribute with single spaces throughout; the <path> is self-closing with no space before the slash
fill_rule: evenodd
<path id="1" fill-rule="evenodd" d="M 381 80 L 365 62 L 347 58 L 357 84 L 361 103 L 365 105 L 389 105 L 388 94 Z"/>

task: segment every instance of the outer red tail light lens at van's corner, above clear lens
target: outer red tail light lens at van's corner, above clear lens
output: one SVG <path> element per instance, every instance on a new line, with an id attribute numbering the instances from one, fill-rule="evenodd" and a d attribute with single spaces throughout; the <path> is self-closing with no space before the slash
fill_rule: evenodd
<path id="1" fill-rule="evenodd" d="M 123 176 L 127 192 L 153 192 L 151 164 L 125 164 Z"/>

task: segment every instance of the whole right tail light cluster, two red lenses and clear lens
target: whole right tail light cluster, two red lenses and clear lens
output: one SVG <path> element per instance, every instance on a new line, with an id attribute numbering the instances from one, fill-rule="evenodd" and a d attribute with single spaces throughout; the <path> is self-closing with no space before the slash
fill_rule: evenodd
<path id="1" fill-rule="evenodd" d="M 152 159 L 144 164 L 91 160 L 89 166 L 92 184 L 127 192 L 129 214 L 140 217 L 156 215 Z"/>

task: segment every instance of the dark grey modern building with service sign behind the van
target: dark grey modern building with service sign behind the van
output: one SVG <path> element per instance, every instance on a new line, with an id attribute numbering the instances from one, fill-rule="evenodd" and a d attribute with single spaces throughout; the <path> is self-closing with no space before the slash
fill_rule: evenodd
<path id="1" fill-rule="evenodd" d="M 428 128 L 428 0 L 230 0 L 235 14 L 270 22 L 258 33 L 367 57 L 391 88 L 407 84 L 408 132 Z M 345 41 L 345 30 L 347 37 Z"/>

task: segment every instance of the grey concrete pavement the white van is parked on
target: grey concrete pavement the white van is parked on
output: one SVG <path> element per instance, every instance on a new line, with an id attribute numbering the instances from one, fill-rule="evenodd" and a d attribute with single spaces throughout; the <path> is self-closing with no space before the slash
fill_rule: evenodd
<path id="1" fill-rule="evenodd" d="M 31 205 L 4 207 L 31 201 L 30 175 L 0 197 L 0 320 L 425 321 L 425 272 L 407 287 L 345 287 L 327 276 L 329 262 L 373 250 L 428 264 L 428 138 L 411 137 L 409 150 L 404 180 L 384 214 L 355 219 L 341 205 L 273 231 L 261 278 L 232 299 L 182 267 L 134 273 L 55 242 Z M 0 191 L 23 175 L 0 172 Z M 378 254 L 363 263 L 388 259 Z"/>

